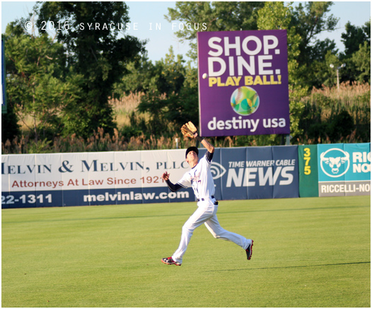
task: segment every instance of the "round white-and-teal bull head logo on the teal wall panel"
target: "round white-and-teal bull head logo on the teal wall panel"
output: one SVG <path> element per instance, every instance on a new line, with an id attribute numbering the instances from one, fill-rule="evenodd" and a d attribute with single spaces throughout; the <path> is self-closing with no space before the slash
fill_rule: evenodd
<path id="1" fill-rule="evenodd" d="M 332 153 L 330 153 L 330 151 L 332 151 Z M 342 151 L 339 148 L 332 148 L 320 154 L 320 166 L 326 175 L 330 177 L 340 177 L 347 173 L 347 170 L 349 170 L 349 159 L 349 153 Z M 347 163 L 347 167 L 342 173 L 339 173 L 339 169 L 345 163 Z M 326 165 L 327 168 L 325 168 L 323 165 Z M 328 173 L 329 171 L 330 173 Z"/>

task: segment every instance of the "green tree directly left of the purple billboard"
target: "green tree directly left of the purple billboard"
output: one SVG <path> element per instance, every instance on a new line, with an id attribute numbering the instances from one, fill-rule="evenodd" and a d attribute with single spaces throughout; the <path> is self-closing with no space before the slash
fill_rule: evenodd
<path id="1" fill-rule="evenodd" d="M 155 64 L 144 54 L 139 61 L 130 62 L 127 69 L 130 74 L 115 85 L 115 93 L 140 91 L 144 97 L 138 112 L 129 115 L 130 125 L 122 129 L 124 136 L 173 135 L 185 122 L 199 122 L 197 69 L 190 62 L 185 65 L 173 47 Z"/>

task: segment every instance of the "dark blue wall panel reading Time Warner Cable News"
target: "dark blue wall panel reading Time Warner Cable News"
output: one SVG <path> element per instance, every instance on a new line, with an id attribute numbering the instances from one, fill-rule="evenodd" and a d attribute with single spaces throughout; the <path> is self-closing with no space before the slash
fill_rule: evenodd
<path id="1" fill-rule="evenodd" d="M 222 198 L 298 197 L 297 152 L 297 146 L 222 148 Z"/>

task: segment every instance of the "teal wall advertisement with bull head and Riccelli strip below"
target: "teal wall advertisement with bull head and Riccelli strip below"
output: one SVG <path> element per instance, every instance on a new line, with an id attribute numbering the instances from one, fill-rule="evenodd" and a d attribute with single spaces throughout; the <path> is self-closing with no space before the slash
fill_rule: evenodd
<path id="1" fill-rule="evenodd" d="M 319 144 L 320 197 L 371 194 L 371 143 Z"/>

